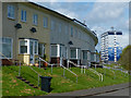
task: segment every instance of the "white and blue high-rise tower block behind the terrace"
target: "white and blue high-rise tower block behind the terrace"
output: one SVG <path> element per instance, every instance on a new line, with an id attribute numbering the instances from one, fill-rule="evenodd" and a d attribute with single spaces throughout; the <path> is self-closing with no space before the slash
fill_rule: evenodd
<path id="1" fill-rule="evenodd" d="M 117 62 L 119 60 L 122 52 L 121 39 L 122 32 L 109 30 L 100 35 L 100 58 L 103 62 Z"/>

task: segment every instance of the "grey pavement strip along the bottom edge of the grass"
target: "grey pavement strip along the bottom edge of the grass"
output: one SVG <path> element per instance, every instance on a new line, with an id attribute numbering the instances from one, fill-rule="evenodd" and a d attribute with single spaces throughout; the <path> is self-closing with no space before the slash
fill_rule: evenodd
<path id="1" fill-rule="evenodd" d="M 111 93 L 111 91 L 116 91 L 116 90 L 120 90 L 120 89 L 122 90 L 126 88 L 129 88 L 129 83 L 97 87 L 97 88 L 90 88 L 90 89 L 82 89 L 82 90 L 75 90 L 75 91 L 69 91 L 69 93 L 49 94 L 47 96 L 50 96 L 50 97 L 51 96 L 75 96 L 75 97 L 84 97 L 84 96 L 87 97 L 88 96 L 90 97 L 90 96 Z"/>

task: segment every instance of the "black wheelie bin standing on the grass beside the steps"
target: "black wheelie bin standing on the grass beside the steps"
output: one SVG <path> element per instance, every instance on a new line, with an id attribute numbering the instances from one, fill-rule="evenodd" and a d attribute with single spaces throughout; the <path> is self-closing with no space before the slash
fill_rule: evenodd
<path id="1" fill-rule="evenodd" d="M 40 76 L 41 78 L 41 90 L 50 93 L 50 81 L 52 77 L 50 76 Z"/>

